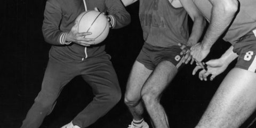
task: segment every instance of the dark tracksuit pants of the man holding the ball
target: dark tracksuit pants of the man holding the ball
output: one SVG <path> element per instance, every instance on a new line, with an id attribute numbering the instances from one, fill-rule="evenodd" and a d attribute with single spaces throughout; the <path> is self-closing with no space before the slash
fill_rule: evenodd
<path id="1" fill-rule="evenodd" d="M 118 79 L 108 54 L 83 61 L 50 56 L 42 89 L 21 127 L 39 127 L 45 116 L 53 110 L 62 88 L 77 75 L 81 75 L 84 81 L 92 87 L 95 97 L 73 119 L 74 125 L 80 127 L 91 125 L 121 99 Z"/>

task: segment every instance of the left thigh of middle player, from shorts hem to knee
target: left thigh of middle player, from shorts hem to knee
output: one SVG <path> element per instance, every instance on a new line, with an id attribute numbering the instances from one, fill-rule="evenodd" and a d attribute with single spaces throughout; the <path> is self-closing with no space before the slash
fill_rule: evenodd
<path id="1" fill-rule="evenodd" d="M 150 70 L 145 67 L 141 62 L 135 61 L 130 73 L 130 76 L 127 81 L 125 98 L 129 101 L 140 100 L 141 98 L 141 88 L 146 82 L 146 79 L 152 73 L 153 70 Z"/>

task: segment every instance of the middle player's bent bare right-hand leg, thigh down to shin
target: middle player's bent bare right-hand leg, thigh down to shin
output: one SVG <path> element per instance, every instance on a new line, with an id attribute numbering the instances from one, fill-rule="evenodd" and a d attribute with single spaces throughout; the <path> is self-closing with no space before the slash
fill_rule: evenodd
<path id="1" fill-rule="evenodd" d="M 177 74 L 177 67 L 169 61 L 160 62 L 142 88 L 142 99 L 154 127 L 169 127 L 164 108 L 159 103 L 162 92 Z"/>

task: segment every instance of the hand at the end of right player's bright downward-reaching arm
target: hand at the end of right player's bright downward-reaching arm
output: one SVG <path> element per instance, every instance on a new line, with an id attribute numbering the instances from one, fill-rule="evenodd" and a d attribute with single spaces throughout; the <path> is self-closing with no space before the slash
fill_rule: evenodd
<path id="1" fill-rule="evenodd" d="M 202 43 L 197 43 L 190 48 L 190 51 L 193 60 L 195 59 L 197 62 L 202 62 L 202 60 L 209 54 L 210 49 L 204 48 Z"/>

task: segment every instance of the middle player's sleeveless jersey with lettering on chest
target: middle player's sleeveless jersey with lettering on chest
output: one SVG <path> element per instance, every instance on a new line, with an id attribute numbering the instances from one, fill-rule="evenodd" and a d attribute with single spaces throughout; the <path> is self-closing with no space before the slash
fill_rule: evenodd
<path id="1" fill-rule="evenodd" d="M 187 13 L 168 0 L 140 0 L 140 23 L 146 43 L 170 47 L 188 40 Z"/>

